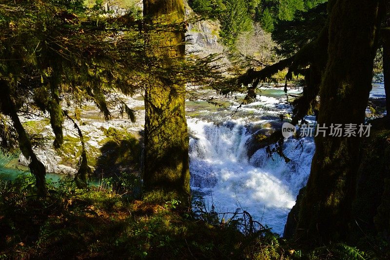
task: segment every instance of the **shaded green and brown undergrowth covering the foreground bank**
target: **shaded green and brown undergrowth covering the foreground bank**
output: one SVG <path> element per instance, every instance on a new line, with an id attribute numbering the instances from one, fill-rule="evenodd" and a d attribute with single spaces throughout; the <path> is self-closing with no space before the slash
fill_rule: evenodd
<path id="1" fill-rule="evenodd" d="M 198 194 L 187 209 L 138 200 L 139 180 L 123 178 L 86 190 L 62 178 L 45 199 L 29 174 L 1 181 L 0 259 L 373 259 L 342 243 L 294 250 L 248 212 L 216 212 Z"/>

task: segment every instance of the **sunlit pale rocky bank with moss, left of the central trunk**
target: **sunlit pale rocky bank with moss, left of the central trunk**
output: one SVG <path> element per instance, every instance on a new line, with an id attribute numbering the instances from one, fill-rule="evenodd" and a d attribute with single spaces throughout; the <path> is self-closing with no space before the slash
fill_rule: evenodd
<path id="1" fill-rule="evenodd" d="M 136 97 L 139 99 L 139 97 Z M 122 97 L 127 105 L 134 110 L 137 121 L 132 123 L 127 118 L 121 118 L 119 115 L 119 108 L 112 107 L 111 111 L 115 118 L 109 121 L 105 121 L 104 118 L 100 115 L 100 112 L 94 103 L 85 103 L 83 105 L 83 111 L 81 112 L 81 120 L 78 121 L 78 126 L 81 129 L 84 135 L 85 146 L 87 150 L 88 163 L 93 168 L 96 167 L 98 160 L 101 159 L 102 152 L 111 153 L 116 156 L 118 150 L 106 151 L 102 147 L 107 147 L 107 143 L 111 143 L 113 137 L 107 135 L 107 129 L 113 128 L 117 129 L 119 133 L 129 133 L 133 136 L 140 138 L 139 132 L 143 130 L 145 112 L 143 110 L 143 100 L 136 100 L 130 97 Z M 63 104 L 64 107 L 69 111 L 74 111 L 74 106 L 66 107 L 66 104 Z M 70 120 L 65 120 L 63 124 L 64 132 L 64 144 L 63 147 L 59 150 L 55 150 L 52 146 L 54 133 L 49 125 L 48 121 L 44 121 L 43 118 L 34 118 L 34 119 L 24 119 L 21 118 L 21 121 L 24 124 L 32 124 L 31 122 L 41 122 L 37 126 L 29 127 L 28 130 L 32 134 L 40 135 L 49 141 L 42 143 L 39 147 L 35 147 L 34 152 L 36 153 L 38 159 L 43 163 L 48 173 L 58 173 L 58 174 L 74 174 L 77 172 L 78 160 L 80 157 L 81 144 L 79 141 L 77 130 L 74 128 L 73 122 Z M 105 156 L 110 156 L 105 154 Z M 29 161 L 24 158 L 22 155 L 19 157 L 19 162 L 21 165 L 28 166 Z M 117 172 L 120 172 L 120 169 L 117 169 Z M 113 173 L 110 172 L 104 173 Z M 102 171 L 99 171 L 99 174 L 102 174 Z"/>

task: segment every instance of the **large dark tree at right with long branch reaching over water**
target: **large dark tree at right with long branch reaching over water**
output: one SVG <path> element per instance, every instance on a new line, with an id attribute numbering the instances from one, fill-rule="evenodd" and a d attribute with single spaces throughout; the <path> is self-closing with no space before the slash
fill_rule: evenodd
<path id="1" fill-rule="evenodd" d="M 328 21 L 315 40 L 303 45 L 291 57 L 261 71 L 248 70 L 238 82 L 252 83 L 248 87 L 251 97 L 260 81 L 287 67 L 287 80 L 292 73 L 300 73 L 306 81 L 302 95 L 292 102 L 293 124 L 303 119 L 311 108 L 318 107 L 318 94 L 318 125 L 364 123 L 378 28 L 385 9 L 381 4 L 379 0 L 330 1 Z M 269 140 L 283 139 L 276 131 Z M 320 244 L 347 237 L 359 165 L 359 142 L 358 137 L 315 138 L 316 152 L 306 195 L 298 202 L 296 235 L 299 238 Z M 283 156 L 282 149 L 276 150 Z"/>

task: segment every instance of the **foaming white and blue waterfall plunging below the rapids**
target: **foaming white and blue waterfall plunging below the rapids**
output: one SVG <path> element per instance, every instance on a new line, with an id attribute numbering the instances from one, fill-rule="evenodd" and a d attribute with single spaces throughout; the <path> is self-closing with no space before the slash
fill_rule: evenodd
<path id="1" fill-rule="evenodd" d="M 249 158 L 251 133 L 242 120 L 187 122 L 193 134 L 189 151 L 192 188 L 203 192 L 217 211 L 243 208 L 282 234 L 287 214 L 309 177 L 313 140 L 287 140 L 284 152 L 292 159 L 289 163 L 276 154 L 267 156 L 265 148 Z"/>

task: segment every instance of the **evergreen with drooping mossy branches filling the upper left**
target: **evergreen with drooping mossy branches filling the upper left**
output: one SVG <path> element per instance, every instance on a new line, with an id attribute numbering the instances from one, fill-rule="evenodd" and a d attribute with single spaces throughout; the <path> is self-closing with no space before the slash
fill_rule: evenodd
<path id="1" fill-rule="evenodd" d="M 13 122 L 20 151 L 30 160 L 29 168 L 36 177 L 41 196 L 45 194 L 46 170 L 32 149 L 32 141 L 20 123 L 19 114 L 23 111 L 28 115 L 36 109 L 48 112 L 55 134 L 53 144 L 60 149 L 64 120 L 61 101 L 64 98 L 76 103 L 94 100 L 108 119 L 110 113 L 103 86 L 112 87 L 115 82 L 124 90 L 122 92 L 131 93 L 134 87 L 126 80 L 131 67 L 124 70 L 123 64 L 142 64 L 144 61 L 139 52 L 135 53 L 137 46 L 143 45 L 134 39 L 133 49 L 126 52 L 128 63 L 114 64 L 114 60 L 123 61 L 123 52 L 120 54 L 107 40 L 109 33 L 105 31 L 104 22 L 98 25 L 95 18 L 91 13 L 86 15 L 83 1 L 7 1 L 0 10 L 0 80 L 4 93 L 0 113 Z M 126 36 L 121 39 L 128 40 Z M 138 59 L 142 61 L 136 62 Z M 120 104 L 134 118 L 132 111 L 124 103 Z M 2 129 L 9 129 L 4 127 L 6 124 L 3 120 Z M 2 135 L 7 136 L 10 135 Z M 91 170 L 81 135 L 80 141 L 83 156 L 76 179 L 80 180 L 77 181 L 79 187 L 86 187 L 86 175 Z M 7 142 L 3 143 L 1 148 L 8 149 Z"/>

